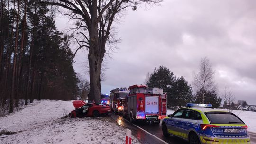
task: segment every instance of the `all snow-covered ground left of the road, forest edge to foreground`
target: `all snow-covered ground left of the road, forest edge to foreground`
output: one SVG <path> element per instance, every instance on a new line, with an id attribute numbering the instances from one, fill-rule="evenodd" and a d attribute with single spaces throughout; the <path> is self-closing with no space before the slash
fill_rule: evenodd
<path id="1" fill-rule="evenodd" d="M 62 118 L 73 110 L 70 101 L 42 100 L 0 117 L 1 144 L 124 144 L 125 129 L 110 117 Z M 133 143 L 139 143 L 132 138 Z"/>

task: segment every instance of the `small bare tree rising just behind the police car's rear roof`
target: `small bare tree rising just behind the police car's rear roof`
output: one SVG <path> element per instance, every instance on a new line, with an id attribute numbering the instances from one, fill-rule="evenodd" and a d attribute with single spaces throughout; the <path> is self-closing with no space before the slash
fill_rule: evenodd
<path id="1" fill-rule="evenodd" d="M 224 103 L 227 104 L 226 109 L 228 111 L 232 110 L 231 104 L 234 103 L 235 101 L 235 96 L 233 95 L 232 91 L 229 90 L 229 88 L 227 88 L 227 86 L 225 86 L 225 90 L 224 90 L 224 94 L 223 94 L 223 99 L 224 99 Z"/>

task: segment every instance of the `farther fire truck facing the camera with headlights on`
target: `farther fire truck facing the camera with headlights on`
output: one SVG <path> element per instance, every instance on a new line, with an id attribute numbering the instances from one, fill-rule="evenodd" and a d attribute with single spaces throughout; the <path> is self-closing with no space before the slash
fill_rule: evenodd
<path id="1" fill-rule="evenodd" d="M 110 108 L 115 113 L 122 112 L 124 107 L 124 101 L 129 94 L 127 88 L 116 88 L 110 91 Z"/>

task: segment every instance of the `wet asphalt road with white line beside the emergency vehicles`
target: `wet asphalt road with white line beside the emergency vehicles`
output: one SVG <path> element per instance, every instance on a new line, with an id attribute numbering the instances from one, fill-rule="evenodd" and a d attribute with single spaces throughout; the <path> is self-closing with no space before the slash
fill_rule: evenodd
<path id="1" fill-rule="evenodd" d="M 128 128 L 132 131 L 132 135 L 135 136 L 141 144 L 189 144 L 188 142 L 170 135 L 164 137 L 162 129 L 159 124 L 147 124 L 142 121 L 130 124 L 127 119 L 124 119 L 121 115 L 112 114 L 111 117 L 124 128 Z M 143 129 L 143 130 L 142 130 Z M 251 136 L 251 144 L 256 144 L 256 134 L 249 133 Z M 159 139 L 155 138 L 154 136 Z"/>

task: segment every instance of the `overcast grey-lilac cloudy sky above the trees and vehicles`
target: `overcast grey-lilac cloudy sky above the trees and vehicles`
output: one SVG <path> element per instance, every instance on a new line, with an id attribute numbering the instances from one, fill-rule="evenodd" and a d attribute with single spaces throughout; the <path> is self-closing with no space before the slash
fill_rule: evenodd
<path id="1" fill-rule="evenodd" d="M 122 41 L 107 58 L 101 92 L 143 84 L 147 72 L 164 65 L 191 85 L 200 60 L 208 57 L 221 96 L 225 85 L 237 100 L 256 104 L 256 0 L 165 0 L 161 6 L 127 10 L 116 24 Z M 70 26 L 56 18 L 57 27 Z M 75 57 L 85 72 L 86 51 Z M 192 85 L 193 86 L 193 85 Z"/>

